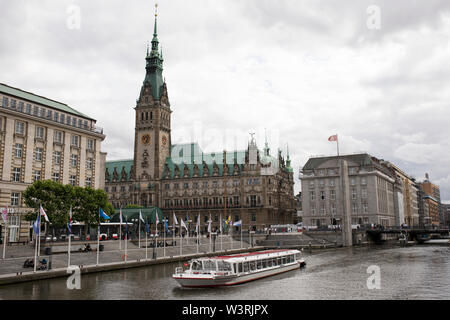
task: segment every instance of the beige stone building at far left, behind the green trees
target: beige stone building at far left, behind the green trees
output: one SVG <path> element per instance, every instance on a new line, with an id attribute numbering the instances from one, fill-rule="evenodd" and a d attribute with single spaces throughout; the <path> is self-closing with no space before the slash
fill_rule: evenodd
<path id="1" fill-rule="evenodd" d="M 95 123 L 67 104 L 0 83 L 0 208 L 8 207 L 9 243 L 30 239 L 22 193 L 34 181 L 104 188 L 105 135 Z"/>

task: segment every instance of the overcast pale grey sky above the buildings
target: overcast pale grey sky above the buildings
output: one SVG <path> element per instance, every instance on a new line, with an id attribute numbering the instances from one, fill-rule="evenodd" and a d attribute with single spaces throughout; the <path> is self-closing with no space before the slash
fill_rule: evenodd
<path id="1" fill-rule="evenodd" d="M 97 120 L 107 160 L 133 157 L 154 1 L 0 0 L 0 82 Z M 450 1 L 161 0 L 172 143 L 367 152 L 450 203 Z"/>

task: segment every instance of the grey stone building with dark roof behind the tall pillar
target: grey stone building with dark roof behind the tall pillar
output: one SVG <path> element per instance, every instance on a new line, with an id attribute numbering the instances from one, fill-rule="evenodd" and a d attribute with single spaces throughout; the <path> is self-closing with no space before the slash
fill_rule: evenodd
<path id="1" fill-rule="evenodd" d="M 348 169 L 343 172 L 340 161 L 344 160 Z M 344 212 L 350 212 L 352 225 L 398 225 L 396 179 L 375 157 L 311 158 L 301 169 L 300 180 L 304 226 L 340 225 Z"/>

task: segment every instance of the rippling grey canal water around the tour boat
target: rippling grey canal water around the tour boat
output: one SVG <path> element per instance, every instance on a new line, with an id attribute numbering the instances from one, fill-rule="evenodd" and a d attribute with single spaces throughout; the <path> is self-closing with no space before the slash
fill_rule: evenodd
<path id="1" fill-rule="evenodd" d="M 0 299 L 295 300 L 449 299 L 450 249 L 444 246 L 360 247 L 304 253 L 307 266 L 232 287 L 186 289 L 172 278 L 179 263 L 0 287 Z M 371 267 L 372 266 L 372 267 Z M 373 267 L 376 266 L 376 267 Z M 369 270 L 368 270 L 369 268 Z M 379 268 L 379 282 L 373 280 Z M 368 273 L 369 271 L 369 273 Z M 372 277 L 369 279 L 369 277 Z M 369 279 L 369 281 L 368 281 Z M 379 289 L 369 289 L 379 283 Z"/>

